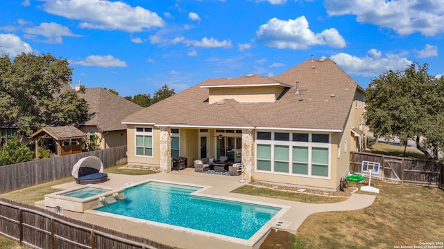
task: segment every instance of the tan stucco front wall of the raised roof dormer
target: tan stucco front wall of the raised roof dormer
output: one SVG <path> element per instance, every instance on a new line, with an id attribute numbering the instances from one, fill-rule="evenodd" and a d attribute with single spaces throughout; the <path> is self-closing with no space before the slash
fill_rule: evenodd
<path id="1" fill-rule="evenodd" d="M 282 87 L 236 87 L 233 89 L 210 89 L 209 104 L 225 99 L 237 102 L 275 102 L 282 93 Z"/>

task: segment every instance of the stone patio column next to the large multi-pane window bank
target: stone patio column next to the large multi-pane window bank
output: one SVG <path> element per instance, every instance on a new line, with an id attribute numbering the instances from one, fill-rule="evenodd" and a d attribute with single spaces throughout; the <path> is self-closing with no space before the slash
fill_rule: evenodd
<path id="1" fill-rule="evenodd" d="M 242 162 L 244 163 L 244 178 L 251 182 L 255 162 L 255 139 L 253 129 L 242 129 Z"/>

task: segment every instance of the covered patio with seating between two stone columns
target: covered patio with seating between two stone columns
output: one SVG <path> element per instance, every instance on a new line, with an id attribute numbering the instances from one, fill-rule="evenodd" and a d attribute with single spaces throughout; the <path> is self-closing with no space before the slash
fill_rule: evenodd
<path id="1" fill-rule="evenodd" d="M 216 174 L 230 174 L 230 166 L 242 162 L 248 178 L 254 160 L 253 133 L 253 129 L 240 127 L 160 127 L 160 143 L 165 145 L 160 147 L 160 169 L 171 172 L 171 159 L 179 156 L 187 158 L 188 167 L 202 160 Z"/>

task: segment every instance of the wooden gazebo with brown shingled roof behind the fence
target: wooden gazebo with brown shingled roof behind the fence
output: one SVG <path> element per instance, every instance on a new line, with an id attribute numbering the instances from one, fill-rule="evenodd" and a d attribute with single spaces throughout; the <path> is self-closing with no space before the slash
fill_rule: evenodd
<path id="1" fill-rule="evenodd" d="M 44 127 L 35 131 L 30 138 L 35 138 L 35 154 L 39 146 L 51 149 L 56 156 L 78 154 L 82 152 L 81 139 L 86 138 L 86 133 L 72 125 L 63 127 Z M 45 141 L 46 140 L 46 141 Z M 40 144 L 44 142 L 44 144 Z"/>

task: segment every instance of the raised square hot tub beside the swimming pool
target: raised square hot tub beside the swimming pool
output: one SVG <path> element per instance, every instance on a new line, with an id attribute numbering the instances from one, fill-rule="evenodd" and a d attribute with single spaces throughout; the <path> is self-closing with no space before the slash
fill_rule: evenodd
<path id="1" fill-rule="evenodd" d="M 109 187 L 84 185 L 76 189 L 46 194 L 44 205 L 50 208 L 59 207 L 63 210 L 84 212 L 125 199 L 123 191 L 123 189 L 112 190 Z"/>

